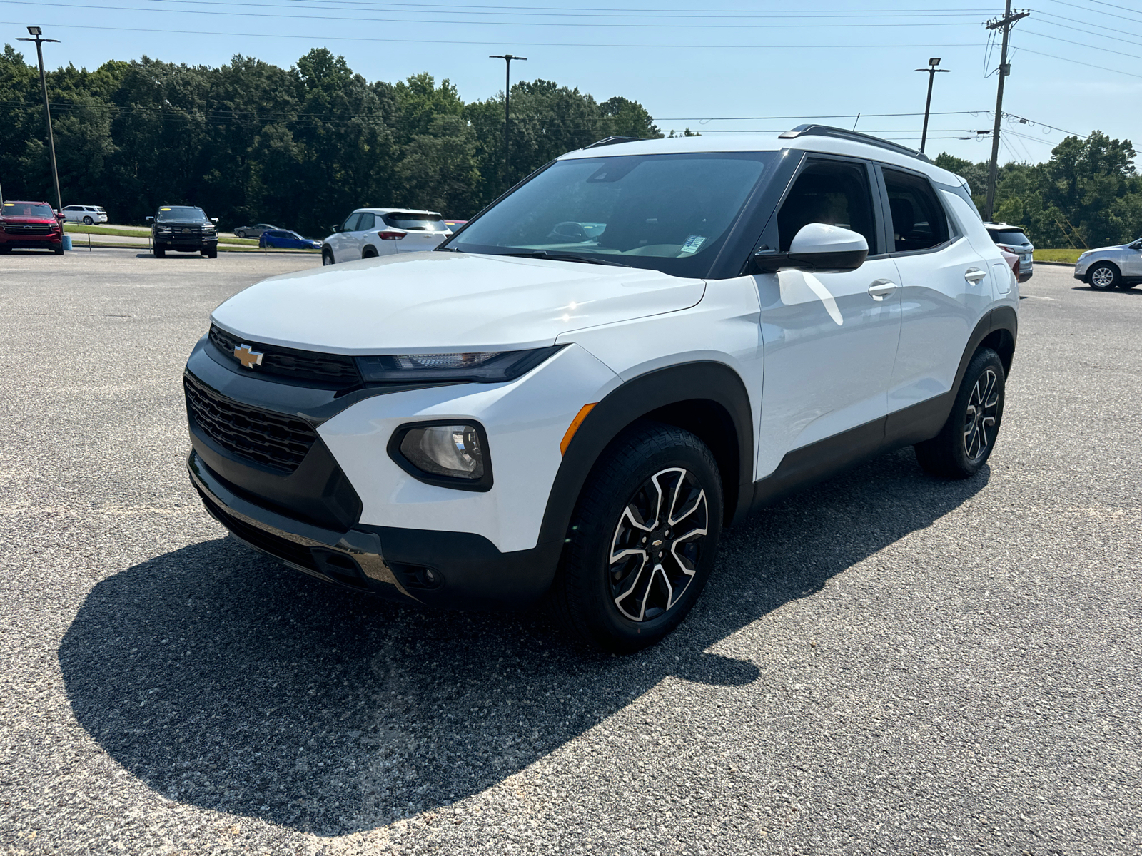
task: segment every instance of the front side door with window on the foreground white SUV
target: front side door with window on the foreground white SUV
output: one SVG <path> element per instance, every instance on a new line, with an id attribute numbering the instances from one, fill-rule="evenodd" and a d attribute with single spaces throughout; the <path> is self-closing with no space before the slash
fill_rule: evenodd
<path id="1" fill-rule="evenodd" d="M 754 277 L 765 347 L 757 478 L 772 474 L 789 452 L 846 431 L 860 435 L 845 442 L 846 453 L 866 445 L 871 451 L 883 439 L 900 294 L 871 186 L 870 165 L 862 161 L 811 158 L 778 211 L 777 234 L 772 223 L 766 227 L 766 236 L 788 251 L 806 224 L 842 226 L 864 235 L 870 255 L 847 273 Z"/>

